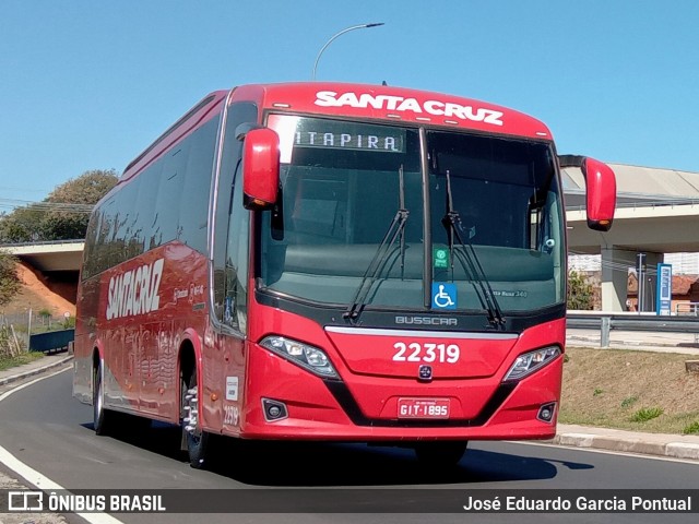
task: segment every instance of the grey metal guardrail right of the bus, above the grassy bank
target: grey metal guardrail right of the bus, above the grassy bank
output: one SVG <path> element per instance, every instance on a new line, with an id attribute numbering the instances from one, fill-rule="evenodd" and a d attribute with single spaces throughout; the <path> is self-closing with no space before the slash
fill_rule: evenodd
<path id="1" fill-rule="evenodd" d="M 578 330 L 600 330 L 600 347 L 609 347 L 609 332 L 654 331 L 662 333 L 694 333 L 699 335 L 699 318 L 691 315 L 656 315 L 638 313 L 576 313 L 566 317 L 567 326 Z"/>

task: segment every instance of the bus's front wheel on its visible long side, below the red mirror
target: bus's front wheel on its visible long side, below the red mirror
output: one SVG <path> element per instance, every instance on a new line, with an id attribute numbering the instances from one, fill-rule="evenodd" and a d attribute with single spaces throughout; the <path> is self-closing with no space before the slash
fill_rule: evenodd
<path id="1" fill-rule="evenodd" d="M 189 455 L 189 464 L 197 469 L 202 469 L 206 467 L 211 455 L 211 436 L 200 428 L 198 404 L 197 369 L 192 368 L 189 377 L 182 377 L 180 386 L 182 449 Z"/>

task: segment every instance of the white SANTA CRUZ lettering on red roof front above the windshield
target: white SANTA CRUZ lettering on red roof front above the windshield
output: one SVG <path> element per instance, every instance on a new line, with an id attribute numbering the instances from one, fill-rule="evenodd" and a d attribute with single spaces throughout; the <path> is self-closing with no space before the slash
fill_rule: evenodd
<path id="1" fill-rule="evenodd" d="M 395 95 L 372 95 L 370 93 L 335 93 L 319 91 L 316 93 L 316 105 L 321 107 L 355 107 L 357 109 L 388 109 L 390 111 L 411 111 L 435 117 L 458 118 L 491 126 L 502 126 L 502 111 L 485 107 L 463 106 L 454 102 L 426 100 L 405 98 Z"/>

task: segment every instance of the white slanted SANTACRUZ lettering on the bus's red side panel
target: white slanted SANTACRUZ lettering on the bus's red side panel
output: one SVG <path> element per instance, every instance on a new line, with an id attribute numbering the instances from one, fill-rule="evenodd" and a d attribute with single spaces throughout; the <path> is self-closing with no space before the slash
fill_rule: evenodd
<path id="1" fill-rule="evenodd" d="M 107 320 L 157 311 L 164 259 L 115 275 L 109 279 Z"/>

